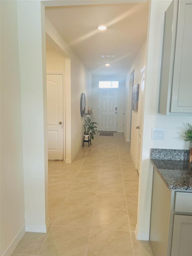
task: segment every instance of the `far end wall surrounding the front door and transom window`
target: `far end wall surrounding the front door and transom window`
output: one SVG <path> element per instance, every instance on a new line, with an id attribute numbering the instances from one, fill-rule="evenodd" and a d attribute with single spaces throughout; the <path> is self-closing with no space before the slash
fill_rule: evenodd
<path id="1" fill-rule="evenodd" d="M 117 115 L 117 132 L 123 132 L 123 121 L 125 118 L 125 77 L 124 76 L 93 76 L 92 79 L 92 101 L 89 107 L 93 107 L 95 122 L 98 123 L 98 93 L 99 81 L 119 81 L 118 90 L 118 115 Z"/>

